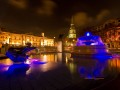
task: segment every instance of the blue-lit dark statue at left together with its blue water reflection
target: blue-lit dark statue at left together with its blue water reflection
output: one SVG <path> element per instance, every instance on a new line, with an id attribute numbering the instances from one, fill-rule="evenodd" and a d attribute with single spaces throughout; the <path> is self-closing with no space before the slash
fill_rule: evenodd
<path id="1" fill-rule="evenodd" d="M 29 55 L 27 52 L 35 49 L 36 47 L 10 47 L 6 52 L 6 56 L 13 61 L 13 65 L 11 65 L 8 69 L 8 74 L 18 74 L 25 75 L 25 72 L 29 69 L 29 64 L 25 64 Z"/>

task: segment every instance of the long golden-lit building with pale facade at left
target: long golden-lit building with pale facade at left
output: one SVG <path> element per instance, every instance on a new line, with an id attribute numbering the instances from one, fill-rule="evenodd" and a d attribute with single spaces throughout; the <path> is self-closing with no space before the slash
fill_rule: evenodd
<path id="1" fill-rule="evenodd" d="M 54 46 L 54 39 L 31 34 L 16 34 L 1 31 L 0 43 L 14 46 L 24 46 L 26 43 L 31 43 L 33 46 Z"/>

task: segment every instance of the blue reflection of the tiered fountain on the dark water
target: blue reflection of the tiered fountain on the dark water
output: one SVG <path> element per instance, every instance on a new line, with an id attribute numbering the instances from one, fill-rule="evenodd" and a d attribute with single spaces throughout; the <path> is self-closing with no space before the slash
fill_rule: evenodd
<path id="1" fill-rule="evenodd" d="M 78 72 L 81 77 L 85 79 L 104 78 L 104 69 L 106 62 L 100 62 L 99 60 L 80 60 L 78 66 Z"/>

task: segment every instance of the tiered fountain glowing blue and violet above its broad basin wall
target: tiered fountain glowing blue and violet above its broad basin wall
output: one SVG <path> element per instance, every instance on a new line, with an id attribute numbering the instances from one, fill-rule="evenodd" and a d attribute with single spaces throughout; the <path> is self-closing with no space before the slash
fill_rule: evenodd
<path id="1" fill-rule="evenodd" d="M 110 55 L 107 46 L 102 42 L 97 35 L 91 35 L 87 32 L 85 36 L 77 39 L 76 46 L 73 47 L 72 57 L 76 56 L 103 56 Z"/>

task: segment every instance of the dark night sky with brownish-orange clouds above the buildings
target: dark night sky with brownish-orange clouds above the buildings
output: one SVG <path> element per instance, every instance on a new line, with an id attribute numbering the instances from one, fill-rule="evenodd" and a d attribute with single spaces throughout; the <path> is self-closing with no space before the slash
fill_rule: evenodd
<path id="1" fill-rule="evenodd" d="M 6 31 L 58 37 L 68 33 L 71 16 L 80 28 L 120 18 L 119 0 L 0 0 L 0 25 Z"/>

